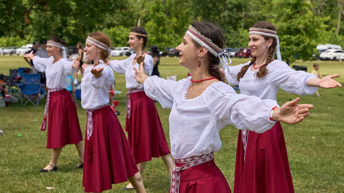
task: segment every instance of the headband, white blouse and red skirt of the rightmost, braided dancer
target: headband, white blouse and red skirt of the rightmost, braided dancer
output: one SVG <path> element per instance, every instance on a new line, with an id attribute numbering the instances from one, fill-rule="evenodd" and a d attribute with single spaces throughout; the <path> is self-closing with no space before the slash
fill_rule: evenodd
<path id="1" fill-rule="evenodd" d="M 251 33 L 277 37 L 276 31 L 263 28 L 250 28 Z M 315 93 L 318 88 L 308 87 L 306 83 L 309 79 L 317 77 L 311 73 L 291 69 L 288 64 L 281 61 L 279 41 L 277 48 L 279 60 L 273 60 L 266 66 L 268 73 L 266 76 L 256 78 L 257 71 L 251 71 L 249 68 L 238 82 L 237 73 L 243 66 L 250 64 L 247 62 L 229 67 L 229 73 L 225 72 L 229 84 L 238 85 L 241 94 L 274 101 L 279 88 L 298 95 Z M 264 133 L 239 131 L 233 191 L 235 193 L 294 192 L 280 122 Z"/>

